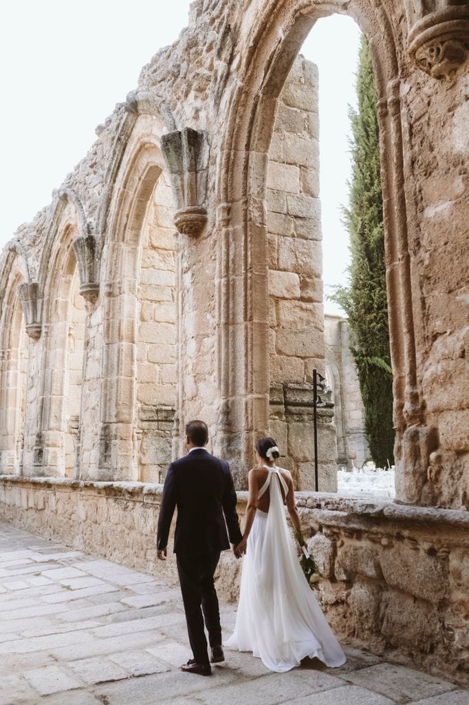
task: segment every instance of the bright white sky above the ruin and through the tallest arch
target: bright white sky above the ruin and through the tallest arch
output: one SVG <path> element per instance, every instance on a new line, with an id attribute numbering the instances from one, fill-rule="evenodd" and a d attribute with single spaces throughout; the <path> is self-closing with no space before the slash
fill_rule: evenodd
<path id="1" fill-rule="evenodd" d="M 137 86 L 140 69 L 187 25 L 190 0 L 15 0 L 2 7 L 0 247 L 85 156 L 94 128 Z M 302 53 L 318 64 L 325 284 L 344 283 L 349 121 L 359 30 L 319 20 Z M 332 47 L 341 47 L 340 60 Z M 326 302 L 326 310 L 338 312 Z"/>

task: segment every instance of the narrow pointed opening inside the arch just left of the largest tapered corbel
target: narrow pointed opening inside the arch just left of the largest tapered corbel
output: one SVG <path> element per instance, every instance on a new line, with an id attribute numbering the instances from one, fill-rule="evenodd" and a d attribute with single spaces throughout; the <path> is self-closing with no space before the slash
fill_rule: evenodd
<path id="1" fill-rule="evenodd" d="M 176 408 L 176 234 L 173 195 L 163 171 L 141 234 L 137 405 L 138 479 L 162 482 L 171 462 Z"/>

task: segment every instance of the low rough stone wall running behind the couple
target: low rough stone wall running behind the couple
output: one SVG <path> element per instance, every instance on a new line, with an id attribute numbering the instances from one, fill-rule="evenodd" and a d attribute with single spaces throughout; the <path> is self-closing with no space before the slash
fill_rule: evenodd
<path id="1" fill-rule="evenodd" d="M 0 518 L 132 568 L 175 578 L 156 559 L 161 485 L 0 477 Z M 324 580 L 318 597 L 340 639 L 468 682 L 469 513 L 298 493 Z M 239 493 L 244 515 L 246 494 Z M 237 598 L 225 552 L 218 589 Z"/>

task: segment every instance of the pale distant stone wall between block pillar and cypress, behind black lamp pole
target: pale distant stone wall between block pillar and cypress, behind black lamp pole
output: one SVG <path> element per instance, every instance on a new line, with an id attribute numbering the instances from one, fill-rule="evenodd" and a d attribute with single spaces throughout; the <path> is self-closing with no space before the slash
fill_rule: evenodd
<path id="1" fill-rule="evenodd" d="M 365 409 L 346 319 L 326 314 L 324 319 L 326 372 L 334 401 L 337 428 L 337 465 L 362 467 L 370 460 L 365 436 Z"/>

